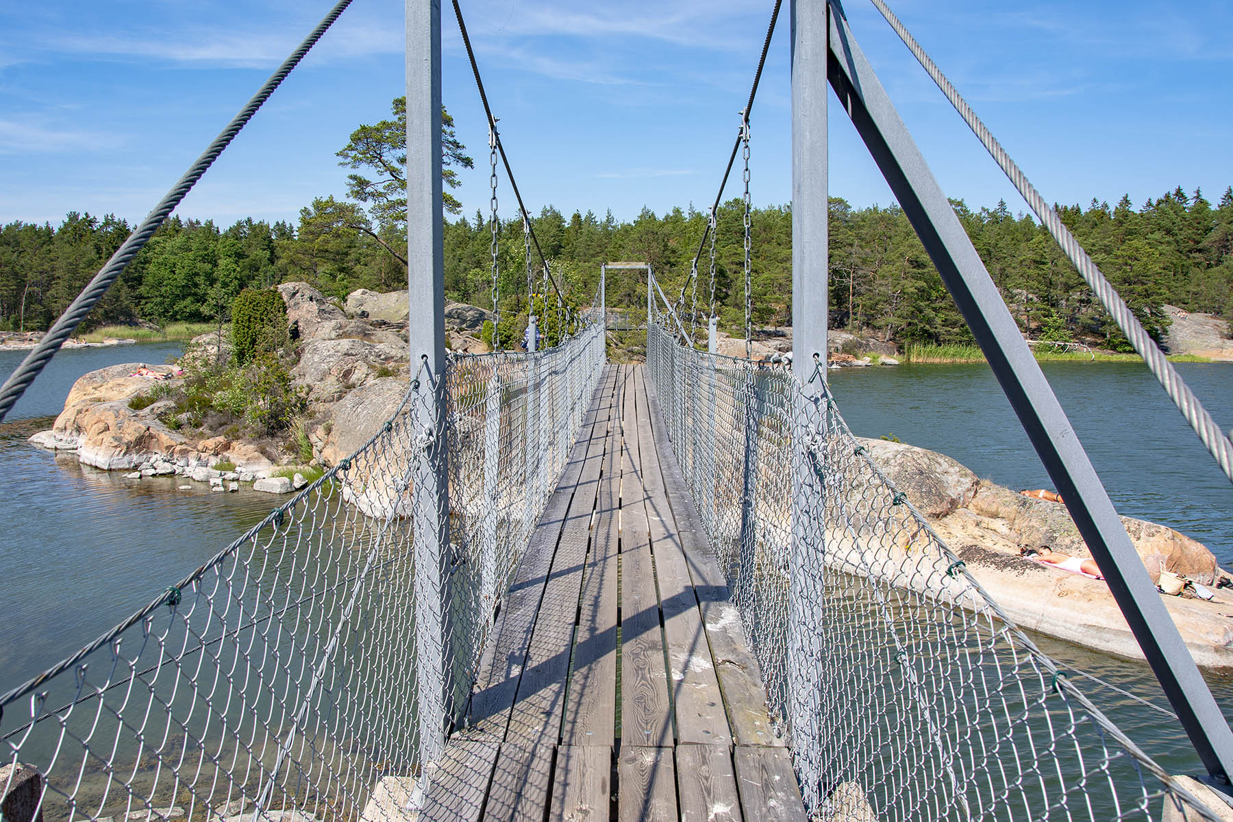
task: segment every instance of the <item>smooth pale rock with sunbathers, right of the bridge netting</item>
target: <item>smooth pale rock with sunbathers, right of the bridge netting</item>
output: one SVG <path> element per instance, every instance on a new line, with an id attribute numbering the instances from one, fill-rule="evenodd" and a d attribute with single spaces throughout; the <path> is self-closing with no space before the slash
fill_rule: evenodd
<path id="1" fill-rule="evenodd" d="M 980 479 L 935 451 L 885 440 L 861 439 L 861 444 L 1016 625 L 1095 651 L 1143 659 L 1104 580 L 1020 556 L 1023 546 L 1048 546 L 1073 557 L 1091 557 L 1062 503 L 1025 497 Z M 1233 669 L 1233 589 L 1216 587 L 1233 574 L 1219 567 L 1205 545 L 1185 534 L 1131 516 L 1123 516 L 1122 524 L 1153 583 L 1161 571 L 1169 571 L 1212 589 L 1210 601 L 1160 596 L 1195 662 L 1210 669 Z M 904 561 L 910 551 L 910 545 L 903 547 L 894 560 Z"/>

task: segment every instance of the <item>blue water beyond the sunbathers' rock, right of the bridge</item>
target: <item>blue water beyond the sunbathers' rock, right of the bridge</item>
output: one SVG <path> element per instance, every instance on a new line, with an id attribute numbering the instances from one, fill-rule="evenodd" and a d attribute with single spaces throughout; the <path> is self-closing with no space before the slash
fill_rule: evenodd
<path id="1" fill-rule="evenodd" d="M 1118 513 L 1175 527 L 1233 566 L 1233 486 L 1141 364 L 1042 364 Z M 1223 430 L 1233 426 L 1233 364 L 1179 362 Z M 1010 488 L 1052 488 L 985 365 L 831 371 L 858 436 L 894 434 Z"/>

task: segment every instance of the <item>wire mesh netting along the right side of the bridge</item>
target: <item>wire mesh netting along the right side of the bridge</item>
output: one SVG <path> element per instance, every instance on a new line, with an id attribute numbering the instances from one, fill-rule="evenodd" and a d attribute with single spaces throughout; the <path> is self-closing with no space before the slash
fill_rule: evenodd
<path id="1" fill-rule="evenodd" d="M 1218 818 L 1001 612 L 817 376 L 657 323 L 647 370 L 816 818 Z"/>

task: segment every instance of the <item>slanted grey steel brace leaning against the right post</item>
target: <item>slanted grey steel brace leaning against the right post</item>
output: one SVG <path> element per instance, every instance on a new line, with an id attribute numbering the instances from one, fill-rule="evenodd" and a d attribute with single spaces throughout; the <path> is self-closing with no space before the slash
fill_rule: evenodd
<path id="1" fill-rule="evenodd" d="M 972 328 L 1041 462 L 1100 566 L 1143 654 L 1216 784 L 1233 774 L 1233 731 L 954 210 L 832 2 L 831 86 Z"/>

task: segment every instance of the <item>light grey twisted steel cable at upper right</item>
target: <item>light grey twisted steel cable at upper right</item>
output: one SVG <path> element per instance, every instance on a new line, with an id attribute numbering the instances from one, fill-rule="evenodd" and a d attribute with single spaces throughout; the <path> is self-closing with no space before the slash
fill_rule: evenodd
<path id="1" fill-rule="evenodd" d="M 1203 446 L 1216 458 L 1221 471 L 1233 482 L 1233 442 L 1221 431 L 1216 420 L 1212 419 L 1212 415 L 1207 413 L 1203 404 L 1190 391 L 1190 386 L 1186 385 L 1181 375 L 1173 367 L 1173 364 L 1165 359 L 1160 346 L 1147 333 L 1147 329 L 1139 323 L 1129 306 L 1126 304 L 1126 301 L 1117 293 L 1113 285 L 1105 279 L 1105 275 L 1101 274 L 1074 234 L 1062 223 L 1058 213 L 1046 202 L 1041 192 L 1036 190 L 1010 155 L 1006 154 L 1006 149 L 994 139 L 989 128 L 972 110 L 968 101 L 959 95 L 946 75 L 942 74 L 942 70 L 933 63 L 921 44 L 916 42 L 916 38 L 911 36 L 903 21 L 895 16 L 884 0 L 872 0 L 872 2 L 882 12 L 882 16 L 887 18 L 887 22 L 890 23 L 890 27 L 895 30 L 899 38 L 904 41 L 904 44 L 907 46 L 912 55 L 916 57 L 925 71 L 933 79 L 937 87 L 942 90 L 946 99 L 959 112 L 959 116 L 963 117 L 963 121 L 977 136 L 977 139 L 980 140 L 980 144 L 985 147 L 985 150 L 997 163 L 997 166 L 1006 174 L 1011 184 L 1023 196 L 1023 200 L 1027 201 L 1027 205 L 1036 212 L 1041 223 L 1048 229 L 1075 269 L 1079 270 L 1080 276 L 1091 287 L 1096 298 L 1100 299 L 1100 303 L 1113 318 L 1113 322 L 1117 323 L 1117 327 L 1126 334 L 1126 339 L 1131 341 L 1134 351 L 1143 357 L 1148 370 L 1152 371 L 1152 376 L 1160 382 L 1165 393 L 1169 394 L 1169 399 L 1178 407 L 1181 415 L 1186 418 L 1190 426 L 1195 429 Z"/>

